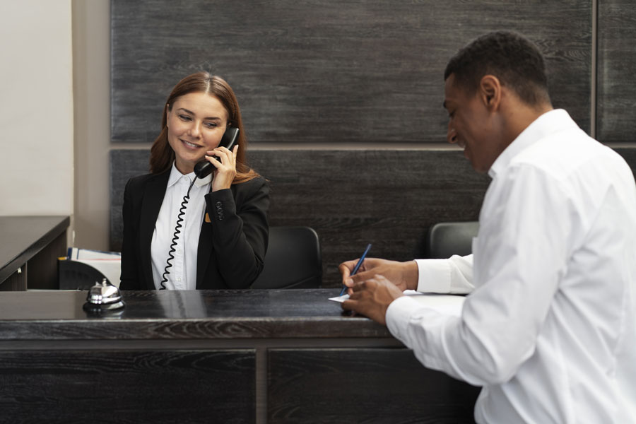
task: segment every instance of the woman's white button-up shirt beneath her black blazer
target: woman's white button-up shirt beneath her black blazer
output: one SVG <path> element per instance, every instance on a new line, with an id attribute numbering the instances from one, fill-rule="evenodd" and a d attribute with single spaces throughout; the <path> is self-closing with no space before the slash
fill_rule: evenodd
<path id="1" fill-rule="evenodd" d="M 155 223 L 153 240 L 151 242 L 151 255 L 153 262 L 153 280 L 155 288 L 161 288 L 166 261 L 172 245 L 172 237 L 175 235 L 177 217 L 179 216 L 184 196 L 194 179 L 194 172 L 183 175 L 175 163 L 172 163 L 170 177 L 163 196 L 163 203 L 159 210 L 159 216 Z M 196 255 L 199 252 L 199 235 L 203 225 L 206 210 L 205 196 L 210 192 L 212 175 L 204 179 L 196 179 L 185 207 L 185 213 L 179 228 L 174 259 L 170 261 L 165 288 L 168 290 L 195 290 L 196 289 Z"/>

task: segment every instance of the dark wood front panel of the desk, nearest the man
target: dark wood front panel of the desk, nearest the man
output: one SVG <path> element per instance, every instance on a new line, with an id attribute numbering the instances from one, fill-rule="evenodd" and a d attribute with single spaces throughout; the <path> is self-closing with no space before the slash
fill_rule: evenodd
<path id="1" fill-rule="evenodd" d="M 472 423 L 480 391 L 409 349 L 272 349 L 267 389 L 272 424 Z"/>

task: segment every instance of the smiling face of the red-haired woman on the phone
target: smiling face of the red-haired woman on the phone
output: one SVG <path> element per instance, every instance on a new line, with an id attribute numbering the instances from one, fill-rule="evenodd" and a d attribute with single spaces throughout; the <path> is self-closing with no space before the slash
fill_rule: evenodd
<path id="1" fill-rule="evenodd" d="M 189 174 L 206 151 L 218 146 L 228 123 L 228 111 L 213 95 L 188 93 L 172 102 L 166 114 L 167 138 L 175 151 L 177 170 Z"/>

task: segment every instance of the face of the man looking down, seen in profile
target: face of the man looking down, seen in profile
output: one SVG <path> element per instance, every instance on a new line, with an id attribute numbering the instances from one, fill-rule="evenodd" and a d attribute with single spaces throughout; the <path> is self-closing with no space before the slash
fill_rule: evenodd
<path id="1" fill-rule="evenodd" d="M 477 172 L 488 172 L 503 151 L 496 116 L 479 89 L 468 96 L 454 81 L 451 74 L 444 86 L 444 107 L 449 114 L 447 141 L 464 148 L 464 156 Z"/>

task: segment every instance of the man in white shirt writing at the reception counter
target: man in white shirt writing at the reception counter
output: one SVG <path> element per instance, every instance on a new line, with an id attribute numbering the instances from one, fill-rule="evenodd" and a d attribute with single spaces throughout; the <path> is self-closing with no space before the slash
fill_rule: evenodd
<path id="1" fill-rule="evenodd" d="M 478 423 L 636 422 L 636 187 L 625 161 L 553 110 L 543 58 L 490 33 L 444 72 L 447 139 L 492 182 L 473 254 L 341 264 L 343 308 L 425 366 L 483 386 Z M 474 287 L 474 288 L 473 288 Z M 402 290 L 467 293 L 460 317 Z"/>

